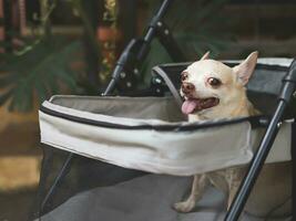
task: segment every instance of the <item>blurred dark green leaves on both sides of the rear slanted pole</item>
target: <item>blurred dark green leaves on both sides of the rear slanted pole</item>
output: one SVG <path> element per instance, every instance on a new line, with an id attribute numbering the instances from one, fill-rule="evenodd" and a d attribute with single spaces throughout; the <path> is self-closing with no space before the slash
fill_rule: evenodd
<path id="1" fill-rule="evenodd" d="M 173 32 L 173 36 L 183 50 L 186 61 L 194 61 L 201 57 L 206 51 L 211 51 L 211 57 L 216 57 L 225 50 L 232 41 L 229 33 L 223 29 L 231 21 L 220 14 L 220 10 L 229 0 L 183 0 L 174 1 L 164 22 Z M 161 1 L 145 0 L 150 13 L 147 21 L 159 10 Z M 172 62 L 170 55 L 162 48 L 159 41 L 152 42 L 151 52 L 143 64 L 143 77 L 146 84 L 150 83 L 151 69 L 160 63 Z"/>

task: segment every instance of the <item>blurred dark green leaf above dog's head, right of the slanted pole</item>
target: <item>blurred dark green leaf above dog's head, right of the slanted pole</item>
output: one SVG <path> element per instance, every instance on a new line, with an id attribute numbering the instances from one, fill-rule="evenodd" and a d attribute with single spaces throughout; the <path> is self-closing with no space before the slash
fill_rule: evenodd
<path id="1" fill-rule="evenodd" d="M 220 11 L 228 1 L 185 0 L 183 4 L 173 7 L 167 23 L 188 56 L 196 59 L 211 51 L 215 57 L 227 48 L 231 36 L 224 29 L 229 21 Z"/>

